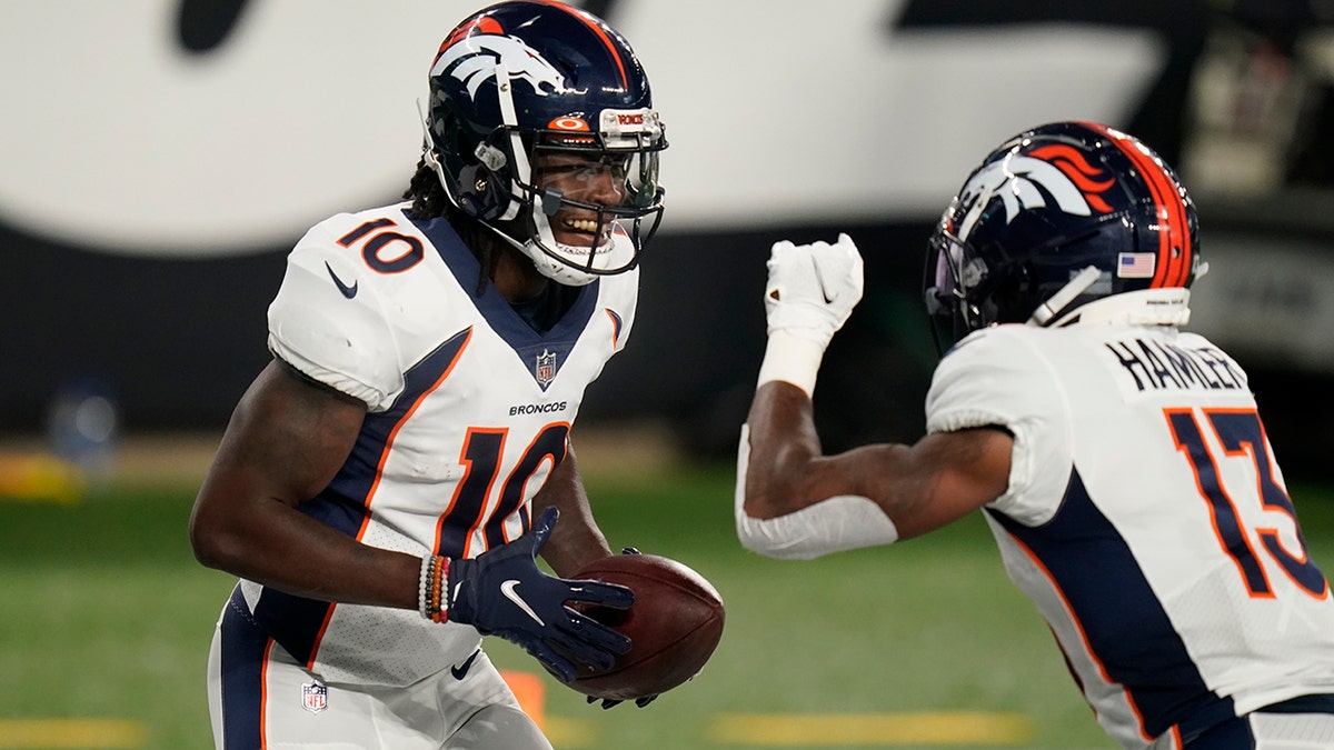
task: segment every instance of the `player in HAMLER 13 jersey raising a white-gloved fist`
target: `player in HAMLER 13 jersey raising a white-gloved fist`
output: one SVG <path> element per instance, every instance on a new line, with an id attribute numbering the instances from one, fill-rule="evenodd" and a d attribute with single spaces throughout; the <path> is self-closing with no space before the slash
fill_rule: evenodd
<path id="1" fill-rule="evenodd" d="M 1126 749 L 1334 747 L 1334 601 L 1246 372 L 1181 330 L 1195 208 L 1143 143 L 1021 133 L 930 243 L 943 346 L 927 435 L 823 455 L 811 394 L 862 295 L 852 240 L 778 243 L 738 452 L 736 531 L 775 558 L 983 512 L 1103 730 Z"/>

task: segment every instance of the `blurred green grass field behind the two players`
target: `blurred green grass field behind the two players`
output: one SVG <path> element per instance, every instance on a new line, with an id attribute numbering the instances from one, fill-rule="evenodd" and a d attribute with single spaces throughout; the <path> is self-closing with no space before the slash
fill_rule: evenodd
<path id="1" fill-rule="evenodd" d="M 647 709 L 588 706 L 492 642 L 502 669 L 542 673 L 559 749 L 1111 747 L 980 518 L 780 562 L 736 543 L 731 466 L 584 474 L 612 546 L 704 574 L 727 627 L 700 677 Z M 233 581 L 191 555 L 193 492 L 121 483 L 68 506 L 0 499 L 0 749 L 211 747 L 204 665 Z M 1294 496 L 1330 570 L 1334 496 Z"/>

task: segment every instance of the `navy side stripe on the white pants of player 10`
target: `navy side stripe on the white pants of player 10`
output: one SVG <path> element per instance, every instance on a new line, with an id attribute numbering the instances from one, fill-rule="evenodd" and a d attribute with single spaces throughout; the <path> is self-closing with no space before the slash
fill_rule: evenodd
<path id="1" fill-rule="evenodd" d="M 220 625 L 223 679 L 223 746 L 227 750 L 261 747 L 264 715 L 264 651 L 268 633 L 249 618 L 241 587 L 232 590 Z"/>

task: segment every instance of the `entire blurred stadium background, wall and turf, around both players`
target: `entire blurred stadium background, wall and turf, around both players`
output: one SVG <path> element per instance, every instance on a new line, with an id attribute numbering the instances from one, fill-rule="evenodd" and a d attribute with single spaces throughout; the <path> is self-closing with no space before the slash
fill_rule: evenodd
<path id="1" fill-rule="evenodd" d="M 189 558 L 193 488 L 268 359 L 287 250 L 325 215 L 398 198 L 426 67 L 480 4 L 0 3 L 0 747 L 207 745 L 203 655 L 228 582 Z M 1289 480 L 1309 487 L 1294 496 L 1315 506 L 1317 558 L 1334 565 L 1327 4 L 575 4 L 631 40 L 671 141 L 632 343 L 590 390 L 576 446 L 596 446 L 586 474 L 608 535 L 696 565 L 732 619 L 712 689 L 640 714 L 548 691 L 558 733 L 579 717 L 566 745 L 772 745 L 755 730 L 770 713 L 859 726 L 971 707 L 1029 727 L 987 725 L 995 746 L 1105 746 L 978 528 L 812 566 L 743 555 L 730 528 L 768 246 L 858 240 L 867 295 L 830 350 L 820 427 L 831 450 L 914 439 L 935 360 L 919 310 L 931 224 L 976 160 L 1050 120 L 1121 127 L 1181 171 L 1211 263 L 1191 328 L 1247 367 Z M 876 577 L 883 610 L 831 585 L 850 573 Z M 89 587 L 97 617 L 75 605 Z M 823 609 L 799 614 L 792 591 Z M 788 643 L 827 651 L 779 669 Z M 916 737 L 880 729 L 839 742 Z"/>

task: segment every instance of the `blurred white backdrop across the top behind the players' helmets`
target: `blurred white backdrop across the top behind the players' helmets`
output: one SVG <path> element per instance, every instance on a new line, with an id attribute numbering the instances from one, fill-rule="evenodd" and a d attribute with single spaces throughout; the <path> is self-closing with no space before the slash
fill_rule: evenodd
<path id="1" fill-rule="evenodd" d="M 896 35 L 899 5 L 615 4 L 668 127 L 663 231 L 930 218 L 1006 136 L 1129 117 L 1162 64 L 1149 29 Z M 228 255 L 394 199 L 427 65 L 478 7 L 256 0 L 192 56 L 180 0 L 0 0 L 0 220 L 91 250 Z"/>

